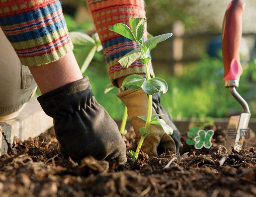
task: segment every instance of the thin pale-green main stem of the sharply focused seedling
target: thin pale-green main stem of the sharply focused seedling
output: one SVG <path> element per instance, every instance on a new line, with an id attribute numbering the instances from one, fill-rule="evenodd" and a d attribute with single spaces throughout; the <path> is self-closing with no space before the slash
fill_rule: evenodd
<path id="1" fill-rule="evenodd" d="M 142 49 L 142 46 L 140 43 L 139 44 L 139 47 L 140 47 L 140 50 L 141 50 L 141 53 L 142 53 L 142 57 L 144 60 L 146 60 L 146 53 L 144 52 L 144 50 Z M 145 67 L 146 67 L 146 76 L 147 76 L 147 79 L 151 79 L 151 76 L 150 76 L 150 70 L 149 70 L 149 66 L 148 64 L 145 64 Z M 147 121 L 146 121 L 146 125 L 144 127 L 144 135 L 141 136 L 140 138 L 140 141 L 139 141 L 139 144 L 137 146 L 137 149 L 136 149 L 136 153 L 135 153 L 135 158 L 138 159 L 138 155 L 139 155 L 139 151 L 140 151 L 140 148 L 142 146 L 142 143 L 147 135 L 147 132 L 148 132 L 148 129 L 149 129 L 149 126 L 150 126 L 150 122 L 151 122 L 151 116 L 152 116 L 152 105 L 153 105 L 153 100 L 152 100 L 152 95 L 148 95 L 149 96 L 149 105 L 148 105 L 148 116 L 147 116 Z"/>

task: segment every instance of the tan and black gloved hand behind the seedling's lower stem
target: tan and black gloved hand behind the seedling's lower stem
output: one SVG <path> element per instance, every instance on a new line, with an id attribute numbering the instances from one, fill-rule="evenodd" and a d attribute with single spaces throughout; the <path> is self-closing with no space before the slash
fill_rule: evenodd
<path id="1" fill-rule="evenodd" d="M 133 129 L 138 138 L 141 137 L 140 128 L 145 126 L 145 121 L 138 116 L 147 116 L 148 113 L 148 95 L 141 89 L 126 90 L 118 93 L 117 96 L 127 107 L 127 114 L 130 118 Z M 148 134 L 142 144 L 142 150 L 150 157 L 157 156 L 166 150 L 174 150 L 178 152 L 180 133 L 171 121 L 168 112 L 160 104 L 160 94 L 153 95 L 153 112 L 152 114 L 164 114 L 161 116 L 167 125 L 173 129 L 173 134 L 168 135 L 160 125 L 150 125 Z"/>

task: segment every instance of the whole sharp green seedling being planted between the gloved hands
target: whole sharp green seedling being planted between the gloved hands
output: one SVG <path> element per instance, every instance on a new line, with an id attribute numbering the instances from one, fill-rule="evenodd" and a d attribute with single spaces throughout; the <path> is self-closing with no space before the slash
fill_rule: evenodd
<path id="1" fill-rule="evenodd" d="M 162 78 L 159 78 L 159 77 L 151 78 L 150 69 L 149 69 L 150 57 L 147 53 L 151 49 L 155 48 L 158 43 L 170 38 L 172 36 L 172 33 L 151 37 L 147 41 L 143 42 L 142 37 L 144 35 L 144 32 L 146 30 L 146 25 L 147 25 L 146 19 L 130 18 L 129 23 L 130 23 L 130 27 L 128 27 L 125 24 L 118 23 L 111 26 L 109 30 L 114 31 L 132 41 L 135 41 L 138 44 L 138 48 L 130 51 L 122 59 L 118 61 L 120 65 L 128 68 L 136 60 L 139 60 L 146 68 L 147 79 L 145 79 L 144 77 L 138 74 L 132 74 L 127 76 L 122 83 L 123 90 L 125 88 L 133 89 L 133 90 L 142 88 L 142 90 L 148 94 L 148 98 L 149 98 L 148 115 L 144 117 L 139 117 L 142 120 L 144 120 L 146 123 L 145 123 L 145 127 L 140 128 L 139 130 L 141 133 L 141 138 L 140 138 L 138 147 L 136 149 L 136 152 L 132 150 L 129 151 L 131 154 L 132 160 L 135 162 L 138 158 L 139 151 L 145 137 L 147 136 L 147 134 L 154 132 L 154 131 L 148 131 L 151 124 L 161 125 L 164 131 L 170 135 L 173 132 L 172 128 L 166 125 L 165 121 L 163 121 L 162 119 L 159 119 L 160 116 L 163 116 L 162 114 L 152 115 L 152 104 L 153 104 L 152 95 L 157 92 L 166 93 L 168 90 L 168 85 L 167 85 L 167 82 Z"/>

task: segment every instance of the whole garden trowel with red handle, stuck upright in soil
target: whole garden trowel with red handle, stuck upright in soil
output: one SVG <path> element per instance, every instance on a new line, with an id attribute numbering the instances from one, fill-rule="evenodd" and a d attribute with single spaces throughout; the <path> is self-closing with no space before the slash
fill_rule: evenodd
<path id="1" fill-rule="evenodd" d="M 225 87 L 229 88 L 231 94 L 244 108 L 244 113 L 240 116 L 232 116 L 229 119 L 225 141 L 225 146 L 229 154 L 232 151 L 231 146 L 237 151 L 242 149 L 244 140 L 242 134 L 247 130 L 251 117 L 247 102 L 236 91 L 240 76 L 243 72 L 239 51 L 242 40 L 242 14 L 244 9 L 245 3 L 242 0 L 232 0 L 226 9 L 222 27 L 222 55 Z"/>

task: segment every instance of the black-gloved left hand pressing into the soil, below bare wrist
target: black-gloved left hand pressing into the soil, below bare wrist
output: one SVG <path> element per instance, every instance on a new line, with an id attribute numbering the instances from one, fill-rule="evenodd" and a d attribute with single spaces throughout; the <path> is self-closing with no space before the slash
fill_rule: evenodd
<path id="1" fill-rule="evenodd" d="M 98 160 L 115 160 L 125 166 L 126 145 L 116 123 L 97 103 L 88 77 L 48 92 L 38 101 L 54 119 L 61 154 L 78 161 L 91 155 Z"/>

